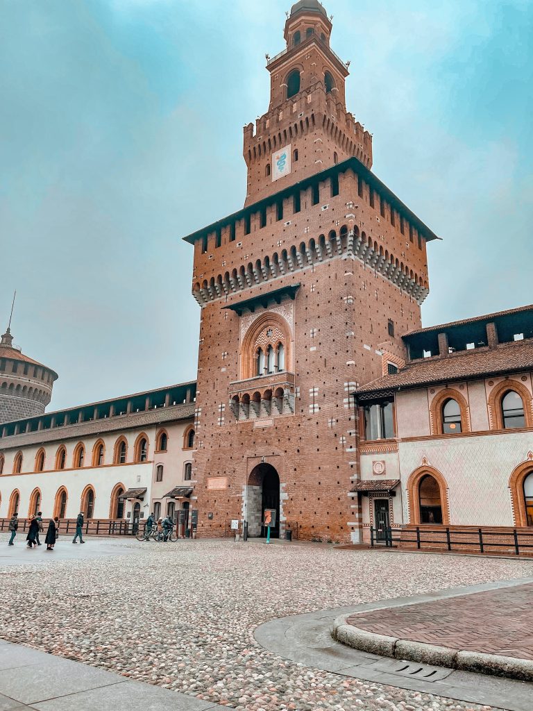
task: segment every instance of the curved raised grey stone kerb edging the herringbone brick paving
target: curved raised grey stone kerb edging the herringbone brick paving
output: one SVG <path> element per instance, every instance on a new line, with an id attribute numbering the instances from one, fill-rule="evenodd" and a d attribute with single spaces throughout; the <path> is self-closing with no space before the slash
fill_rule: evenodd
<path id="1" fill-rule="evenodd" d="M 347 620 L 352 616 L 353 614 L 348 614 L 335 618 L 331 634 L 338 642 L 354 649 L 384 657 L 444 666 L 448 669 L 533 681 L 533 660 L 440 647 L 409 639 L 374 634 L 348 624 Z"/>

